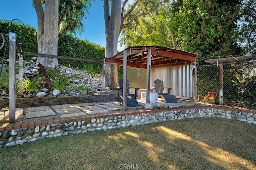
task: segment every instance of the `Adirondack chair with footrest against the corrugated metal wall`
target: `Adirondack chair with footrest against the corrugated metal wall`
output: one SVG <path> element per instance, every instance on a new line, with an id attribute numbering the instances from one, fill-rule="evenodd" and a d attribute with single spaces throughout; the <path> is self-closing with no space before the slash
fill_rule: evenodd
<path id="1" fill-rule="evenodd" d="M 178 103 L 178 100 L 175 98 L 174 95 L 170 95 L 170 91 L 172 88 L 166 88 L 167 93 L 164 93 L 164 83 L 162 80 L 156 79 L 154 81 L 154 91 L 158 92 L 158 97 L 162 98 L 162 101 L 164 100 L 165 103 Z"/>

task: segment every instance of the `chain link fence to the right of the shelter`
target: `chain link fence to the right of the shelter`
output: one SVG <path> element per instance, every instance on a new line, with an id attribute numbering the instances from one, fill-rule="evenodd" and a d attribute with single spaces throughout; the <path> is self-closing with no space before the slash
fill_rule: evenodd
<path id="1" fill-rule="evenodd" d="M 256 109 L 256 61 L 224 63 L 223 105 Z M 219 103 L 220 66 L 203 65 L 197 70 L 197 100 Z M 210 100 L 208 92 L 215 92 L 217 100 Z"/>

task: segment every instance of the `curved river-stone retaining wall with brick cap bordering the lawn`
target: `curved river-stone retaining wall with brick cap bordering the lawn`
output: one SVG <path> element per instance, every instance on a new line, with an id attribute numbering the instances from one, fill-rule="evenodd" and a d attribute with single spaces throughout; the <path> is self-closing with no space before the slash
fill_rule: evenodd
<path id="1" fill-rule="evenodd" d="M 140 110 L 133 113 L 103 113 L 8 124 L 0 127 L 0 147 L 22 145 L 39 139 L 74 135 L 148 123 L 194 118 L 220 117 L 256 124 L 256 111 L 225 107 Z"/>

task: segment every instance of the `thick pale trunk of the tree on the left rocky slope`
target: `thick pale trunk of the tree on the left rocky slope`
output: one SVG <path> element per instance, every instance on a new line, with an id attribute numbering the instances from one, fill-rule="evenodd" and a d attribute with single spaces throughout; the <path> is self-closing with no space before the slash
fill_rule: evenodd
<path id="1" fill-rule="evenodd" d="M 44 9 L 41 0 L 33 0 L 37 15 L 38 53 L 58 55 L 58 0 L 45 0 Z M 58 59 L 38 56 L 37 62 L 43 66 L 55 68 Z"/>

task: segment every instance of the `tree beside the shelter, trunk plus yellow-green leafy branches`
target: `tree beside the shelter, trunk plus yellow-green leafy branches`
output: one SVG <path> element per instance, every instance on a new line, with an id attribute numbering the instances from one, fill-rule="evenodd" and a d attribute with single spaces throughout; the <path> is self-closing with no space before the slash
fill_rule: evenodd
<path id="1" fill-rule="evenodd" d="M 106 33 L 106 53 L 105 57 L 111 58 L 117 54 L 118 37 L 124 28 L 132 25 L 133 21 L 148 14 L 150 9 L 154 9 L 156 5 L 154 0 L 134 0 L 132 4 L 127 4 L 128 0 L 124 0 L 121 7 L 121 0 L 104 0 L 104 19 Z M 126 10 L 126 5 L 127 10 Z M 110 12 L 111 8 L 111 12 Z M 110 69 L 106 69 L 106 84 L 111 89 L 115 89 L 118 85 L 117 66 L 111 65 Z"/>

